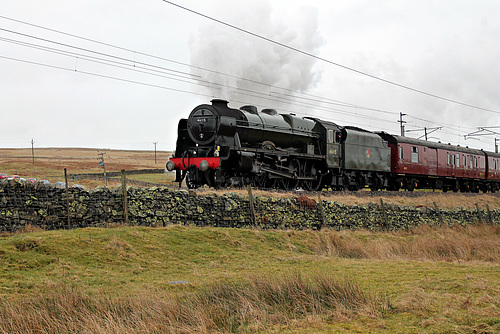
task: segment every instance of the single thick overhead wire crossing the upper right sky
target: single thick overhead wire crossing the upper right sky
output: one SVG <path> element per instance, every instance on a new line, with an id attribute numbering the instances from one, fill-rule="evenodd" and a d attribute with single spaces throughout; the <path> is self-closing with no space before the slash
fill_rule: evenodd
<path id="1" fill-rule="evenodd" d="M 195 10 L 192 10 L 192 9 L 189 9 L 187 7 L 184 7 L 184 6 L 181 6 L 179 4 L 176 4 L 176 3 L 173 3 L 171 1 L 167 1 L 167 0 L 162 0 L 163 2 L 167 3 L 167 4 L 170 4 L 172 6 L 175 6 L 175 7 L 178 7 L 180 9 L 183 9 L 185 11 L 188 11 L 190 13 L 193 13 L 193 14 L 196 14 L 198 16 L 201 16 L 201 17 L 204 17 L 208 20 L 211 20 L 211 21 L 214 21 L 214 22 L 217 22 L 219 24 L 222 24 L 222 25 L 225 25 L 227 27 L 230 27 L 232 29 L 235 29 L 235 30 L 238 30 L 242 33 L 245 33 L 247 35 L 251 35 L 253 37 L 256 37 L 256 38 L 259 38 L 259 39 L 262 39 L 264 41 L 267 41 L 269 43 L 272 43 L 272 44 L 275 44 L 275 45 L 279 45 L 283 48 L 287 48 L 289 50 L 292 50 L 292 51 L 295 51 L 297 53 L 300 53 L 300 54 L 303 54 L 305 56 L 308 56 L 308 57 L 312 57 L 312 58 L 315 58 L 317 60 L 320 60 L 322 62 L 325 62 L 325 63 L 328 63 L 328 64 L 331 64 L 331 65 L 335 65 L 337 67 L 340 67 L 340 68 L 343 68 L 345 70 L 348 70 L 348 71 L 351 71 L 351 72 L 354 72 L 354 73 L 357 73 L 357 74 L 361 74 L 361 75 L 364 75 L 364 76 L 367 76 L 369 78 L 372 78 L 372 79 L 375 79 L 375 80 L 379 80 L 379 81 L 382 81 L 382 82 L 385 82 L 387 84 L 390 84 L 390 85 L 393 85 L 393 86 L 397 86 L 397 87 L 400 87 L 400 88 L 404 88 L 404 89 L 407 89 L 407 90 L 410 90 L 410 91 L 413 91 L 413 92 L 416 92 L 416 93 L 419 93 L 419 94 L 423 94 L 423 95 L 427 95 L 427 96 L 430 96 L 430 97 L 434 97 L 434 98 L 437 98 L 437 99 L 440 99 L 440 100 L 444 100 L 444 101 L 447 101 L 447 102 L 451 102 L 451 103 L 455 103 L 455 104 L 459 104 L 459 105 L 462 105 L 462 106 L 466 106 L 466 107 L 470 107 L 470 108 L 474 108 L 474 109 L 479 109 L 479 110 L 484 110 L 484 111 L 489 111 L 489 112 L 492 112 L 492 113 L 496 113 L 496 114 L 500 114 L 500 111 L 497 111 L 497 110 L 492 110 L 492 109 L 487 109 L 487 108 L 482 108 L 482 107 L 478 107 L 478 106 L 474 106 L 472 104 L 468 104 L 468 103 L 464 103 L 464 102 L 460 102 L 460 101 L 457 101 L 457 100 L 453 100 L 453 99 L 449 99 L 447 97 L 443 97 L 443 96 L 439 96 L 439 95 L 436 95 L 436 94 L 432 94 L 432 93 L 429 93 L 429 92 L 425 92 L 423 90 L 420 90 L 420 89 L 416 89 L 416 88 L 412 88 L 410 86 L 406 86 L 406 85 L 403 85 L 403 84 L 400 84 L 400 83 L 397 83 L 395 81 L 391 81 L 391 80 L 387 80 L 387 79 L 384 79 L 382 77 L 378 77 L 376 75 L 373 75 L 373 74 L 370 74 L 370 73 L 367 73 L 367 72 L 363 72 L 363 71 L 360 71 L 360 70 L 357 70 L 355 68 L 352 68 L 352 67 L 349 67 L 349 66 L 346 66 L 346 65 L 342 65 L 340 63 L 337 63 L 337 62 L 334 62 L 334 61 L 331 61 L 329 59 L 326 59 L 326 58 L 323 58 L 323 57 L 319 57 L 315 54 L 312 54 L 310 52 L 307 52 L 307 51 L 304 51 L 304 50 L 301 50 L 301 49 L 298 49 L 298 48 L 295 48 L 293 46 L 290 46 L 290 45 L 287 45 L 287 44 L 284 44 L 284 43 L 281 43 L 281 42 L 278 42 L 278 41 L 275 41 L 273 39 L 270 39 L 270 38 L 267 38 L 265 36 L 262 36 L 262 35 L 259 35 L 259 34 L 256 34 L 254 32 L 251 32 L 249 30 L 246 30 L 246 29 L 243 29 L 243 28 L 240 28 L 240 27 L 237 27 L 233 24 L 230 24 L 230 23 L 227 23 L 227 22 L 224 22 L 224 21 L 221 21 L 221 20 L 218 20 L 216 18 L 213 18 L 211 16 L 208 16 L 208 15 L 205 15 L 205 14 L 202 14 L 200 12 L 197 12 Z"/>

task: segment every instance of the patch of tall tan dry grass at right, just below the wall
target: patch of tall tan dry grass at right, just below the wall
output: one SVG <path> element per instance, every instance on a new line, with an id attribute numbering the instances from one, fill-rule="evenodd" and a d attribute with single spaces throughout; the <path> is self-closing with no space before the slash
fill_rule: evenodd
<path id="1" fill-rule="evenodd" d="M 500 264 L 500 226 L 431 227 L 388 233 L 373 238 L 371 232 L 318 233 L 313 249 L 339 258 L 469 262 Z"/>

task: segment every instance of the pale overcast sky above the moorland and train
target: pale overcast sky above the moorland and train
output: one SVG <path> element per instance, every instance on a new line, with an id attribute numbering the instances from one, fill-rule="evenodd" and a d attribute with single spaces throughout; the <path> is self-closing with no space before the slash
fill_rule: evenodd
<path id="1" fill-rule="evenodd" d="M 206 17 L 2 1 L 0 147 L 173 150 L 178 120 L 225 98 L 395 134 L 404 113 L 410 137 L 494 149 L 464 135 L 500 132 L 500 1 L 172 2 Z"/>

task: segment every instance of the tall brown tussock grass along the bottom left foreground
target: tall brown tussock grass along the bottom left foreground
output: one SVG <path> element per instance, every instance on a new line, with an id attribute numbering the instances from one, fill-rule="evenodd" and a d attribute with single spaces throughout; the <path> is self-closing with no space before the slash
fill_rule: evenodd
<path id="1" fill-rule="evenodd" d="M 210 333 L 264 330 L 336 312 L 378 315 L 382 299 L 352 279 L 298 273 L 218 282 L 183 296 L 90 296 L 67 286 L 16 302 L 0 301 L 2 333 Z M 387 305 L 387 304 L 385 304 Z"/>

